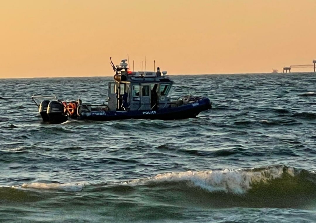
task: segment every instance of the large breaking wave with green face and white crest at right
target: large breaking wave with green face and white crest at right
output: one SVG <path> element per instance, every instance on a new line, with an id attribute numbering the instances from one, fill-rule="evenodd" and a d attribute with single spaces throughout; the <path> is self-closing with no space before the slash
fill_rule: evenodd
<path id="1" fill-rule="evenodd" d="M 122 186 L 185 206 L 310 209 L 316 204 L 316 174 L 284 165 L 165 173 L 121 182 L 113 191 L 130 191 Z"/>

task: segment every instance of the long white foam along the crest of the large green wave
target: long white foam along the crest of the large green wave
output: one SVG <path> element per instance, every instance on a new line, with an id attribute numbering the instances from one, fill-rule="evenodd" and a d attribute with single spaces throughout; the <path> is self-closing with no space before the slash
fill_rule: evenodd
<path id="1" fill-rule="evenodd" d="M 135 179 L 123 184 L 146 185 L 149 183 L 188 181 L 193 186 L 209 191 L 224 191 L 235 194 L 243 194 L 251 189 L 253 183 L 268 183 L 273 179 L 281 178 L 284 173 L 283 166 L 267 169 L 250 170 L 205 170 L 186 171 L 158 174 L 155 177 Z M 286 173 L 294 176 L 294 169 L 287 168 Z"/>

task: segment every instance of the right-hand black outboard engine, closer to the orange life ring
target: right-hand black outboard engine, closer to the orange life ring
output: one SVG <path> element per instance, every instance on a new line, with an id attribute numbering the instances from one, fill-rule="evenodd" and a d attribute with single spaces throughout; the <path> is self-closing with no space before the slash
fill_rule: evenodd
<path id="1" fill-rule="evenodd" d="M 51 101 L 47 107 L 47 115 L 49 121 L 53 123 L 62 123 L 68 120 L 68 116 L 64 113 L 64 105 L 58 101 Z"/>

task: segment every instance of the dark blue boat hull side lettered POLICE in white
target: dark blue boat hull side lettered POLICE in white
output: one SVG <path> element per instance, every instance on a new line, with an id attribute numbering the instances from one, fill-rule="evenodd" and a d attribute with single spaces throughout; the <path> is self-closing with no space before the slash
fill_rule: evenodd
<path id="1" fill-rule="evenodd" d="M 159 110 L 137 110 L 137 111 L 92 111 L 82 113 L 81 120 L 113 121 L 123 119 L 159 119 L 175 120 L 194 118 L 200 112 L 210 109 L 210 99 L 202 98 L 193 103 L 181 105 L 175 108 L 163 108 Z"/>

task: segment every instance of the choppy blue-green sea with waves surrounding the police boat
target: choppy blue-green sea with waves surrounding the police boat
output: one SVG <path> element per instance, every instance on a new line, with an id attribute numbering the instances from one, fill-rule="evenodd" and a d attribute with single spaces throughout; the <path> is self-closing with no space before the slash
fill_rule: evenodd
<path id="1" fill-rule="evenodd" d="M 316 222 L 316 74 L 171 76 L 177 121 L 41 122 L 33 94 L 106 102 L 112 77 L 0 79 L 0 222 Z"/>

